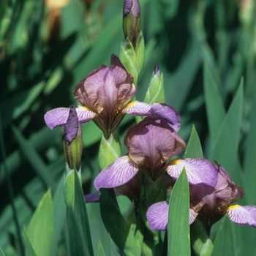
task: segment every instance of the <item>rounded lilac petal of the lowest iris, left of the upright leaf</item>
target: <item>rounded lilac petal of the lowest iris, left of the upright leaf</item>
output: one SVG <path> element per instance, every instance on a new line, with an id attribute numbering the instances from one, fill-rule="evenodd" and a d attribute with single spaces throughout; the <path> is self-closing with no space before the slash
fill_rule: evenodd
<path id="1" fill-rule="evenodd" d="M 166 230 L 168 223 L 168 208 L 166 201 L 154 203 L 148 208 L 146 217 L 152 230 Z"/>

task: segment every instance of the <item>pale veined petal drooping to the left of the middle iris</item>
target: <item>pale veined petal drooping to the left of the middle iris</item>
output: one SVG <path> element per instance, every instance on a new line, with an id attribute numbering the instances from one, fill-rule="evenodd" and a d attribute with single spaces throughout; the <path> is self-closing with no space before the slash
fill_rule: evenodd
<path id="1" fill-rule="evenodd" d="M 127 157 L 119 157 L 113 164 L 102 170 L 94 180 L 94 187 L 112 188 L 121 186 L 129 181 L 138 172 L 135 162 Z"/>

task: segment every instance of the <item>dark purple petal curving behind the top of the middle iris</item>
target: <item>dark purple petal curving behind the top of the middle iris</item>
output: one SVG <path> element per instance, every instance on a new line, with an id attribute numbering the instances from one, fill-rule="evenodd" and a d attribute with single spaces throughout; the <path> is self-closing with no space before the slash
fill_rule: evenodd
<path id="1" fill-rule="evenodd" d="M 181 118 L 178 112 L 166 104 L 154 103 L 151 107 L 151 116 L 154 118 L 162 118 L 172 127 L 176 132 L 181 127 Z"/>

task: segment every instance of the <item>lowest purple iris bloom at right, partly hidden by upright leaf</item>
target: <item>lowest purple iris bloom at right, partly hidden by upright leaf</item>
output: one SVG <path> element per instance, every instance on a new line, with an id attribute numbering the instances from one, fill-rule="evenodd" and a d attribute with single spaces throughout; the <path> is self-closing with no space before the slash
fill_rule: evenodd
<path id="1" fill-rule="evenodd" d="M 200 220 L 206 229 L 211 229 L 225 215 L 238 225 L 256 227 L 256 206 L 230 205 L 244 197 L 244 190 L 236 185 L 221 165 L 216 165 L 218 173 L 215 187 L 190 186 L 189 223 Z M 154 230 L 166 230 L 168 220 L 168 203 L 159 202 L 147 211 L 149 225 Z"/>

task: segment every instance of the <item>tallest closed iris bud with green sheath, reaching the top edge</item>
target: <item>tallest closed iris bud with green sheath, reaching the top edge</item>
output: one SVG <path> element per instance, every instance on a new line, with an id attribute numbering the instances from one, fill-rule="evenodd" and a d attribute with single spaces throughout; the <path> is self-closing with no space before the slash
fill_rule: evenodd
<path id="1" fill-rule="evenodd" d="M 135 84 L 144 64 L 144 39 L 140 31 L 140 3 L 138 0 L 124 0 L 124 40 L 121 42 L 120 59 L 132 74 Z"/>

